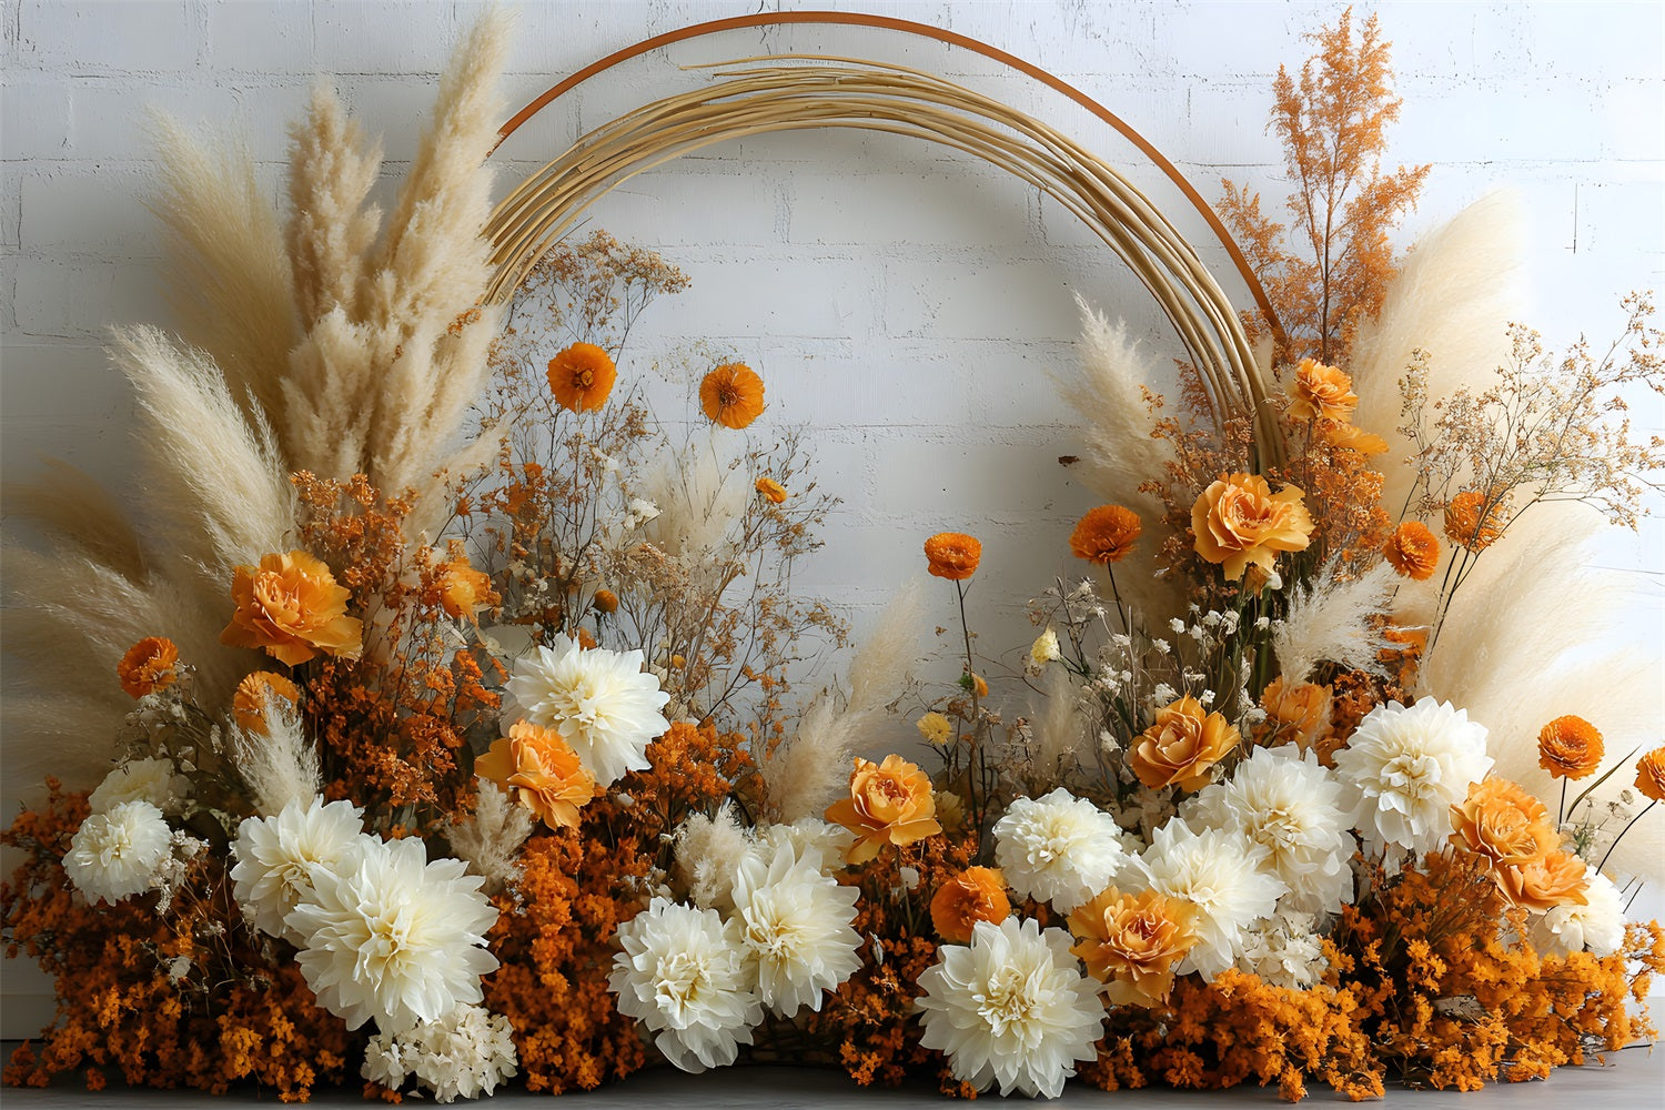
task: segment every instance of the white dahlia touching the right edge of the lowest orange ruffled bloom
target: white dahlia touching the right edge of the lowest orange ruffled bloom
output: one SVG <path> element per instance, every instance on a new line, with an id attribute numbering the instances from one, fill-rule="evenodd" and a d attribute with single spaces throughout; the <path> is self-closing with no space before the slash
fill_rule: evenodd
<path id="1" fill-rule="evenodd" d="M 1214 979 L 1237 960 L 1244 932 L 1272 914 L 1289 889 L 1264 867 L 1267 850 L 1237 832 L 1194 832 L 1179 817 L 1151 837 L 1142 857 L 1149 885 L 1197 907 L 1197 944 L 1177 972 Z"/>

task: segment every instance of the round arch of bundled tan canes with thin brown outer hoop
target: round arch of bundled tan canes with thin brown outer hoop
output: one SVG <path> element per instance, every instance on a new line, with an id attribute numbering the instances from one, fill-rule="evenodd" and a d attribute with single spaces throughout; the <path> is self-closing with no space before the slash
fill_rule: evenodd
<path id="1" fill-rule="evenodd" d="M 1225 246 L 1275 336 L 1265 290 L 1207 201 L 1142 135 L 1057 77 L 987 43 L 926 23 L 851 12 L 783 12 L 694 23 L 611 53 L 516 113 L 500 143 L 583 82 L 651 50 L 728 30 L 788 23 L 872 27 L 981 53 L 1064 93 L 1116 128 L 1161 168 Z M 501 300 L 614 186 L 683 155 L 751 135 L 856 128 L 904 135 L 982 158 L 1064 205 L 1132 270 L 1174 326 L 1202 374 L 1215 423 L 1254 416 L 1260 464 L 1284 459 L 1254 346 L 1219 283 L 1161 211 L 1112 166 L 1046 123 L 989 97 L 906 67 L 859 58 L 778 55 L 711 68 L 711 83 L 626 111 L 579 136 L 521 181 L 491 213 L 490 298 Z"/>

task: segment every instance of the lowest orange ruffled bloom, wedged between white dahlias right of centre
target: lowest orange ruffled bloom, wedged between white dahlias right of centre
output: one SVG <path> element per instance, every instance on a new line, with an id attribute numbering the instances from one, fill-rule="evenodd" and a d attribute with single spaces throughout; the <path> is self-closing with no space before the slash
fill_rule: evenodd
<path id="1" fill-rule="evenodd" d="M 1069 930 L 1071 952 L 1106 985 L 1109 1002 L 1152 1007 L 1167 1002 L 1174 965 L 1197 944 L 1197 907 L 1157 890 L 1111 887 L 1071 910 Z"/>

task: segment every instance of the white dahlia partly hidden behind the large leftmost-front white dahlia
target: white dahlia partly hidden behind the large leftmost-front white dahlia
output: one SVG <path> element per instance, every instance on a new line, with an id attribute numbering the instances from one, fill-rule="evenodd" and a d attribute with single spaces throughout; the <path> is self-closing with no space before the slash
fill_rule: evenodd
<path id="1" fill-rule="evenodd" d="M 246 817 L 236 827 L 231 894 L 248 922 L 268 937 L 300 945 L 305 937 L 285 925 L 311 894 L 313 870 L 335 867 L 365 837 L 363 810 L 351 802 L 290 802 L 273 817 Z"/>

